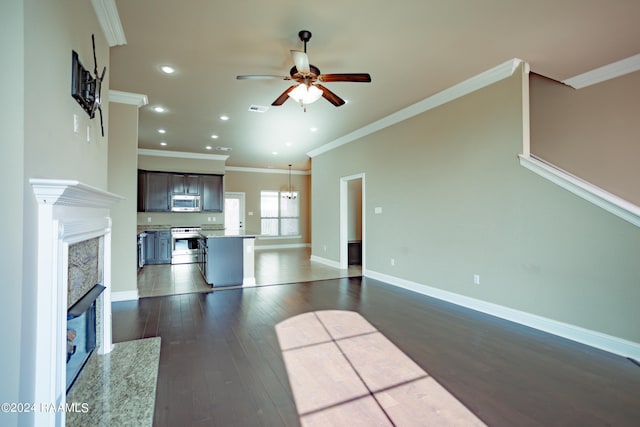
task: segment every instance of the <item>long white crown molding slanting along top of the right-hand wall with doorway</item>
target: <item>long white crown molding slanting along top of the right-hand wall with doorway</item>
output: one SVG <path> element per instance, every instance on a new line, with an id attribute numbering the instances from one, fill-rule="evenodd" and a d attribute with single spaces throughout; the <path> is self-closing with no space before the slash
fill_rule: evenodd
<path id="1" fill-rule="evenodd" d="M 425 111 L 429 111 L 440 105 L 446 104 L 447 102 L 451 102 L 454 99 L 465 96 L 471 92 L 475 92 L 478 89 L 482 89 L 483 87 L 489 86 L 490 84 L 496 83 L 507 77 L 511 77 L 511 75 L 513 75 L 514 71 L 521 63 L 522 60 L 517 58 L 506 61 L 496 67 L 493 67 L 490 70 L 484 71 L 474 77 L 458 83 L 455 86 L 438 92 L 435 95 L 430 96 L 429 98 L 425 98 L 422 101 L 419 101 L 413 105 L 403 108 L 400 111 L 383 117 L 382 119 L 370 123 L 367 126 L 364 126 L 354 132 L 348 133 L 347 135 L 335 139 L 321 147 L 316 148 L 315 150 L 311 150 L 307 153 L 307 155 L 309 157 L 315 157 L 322 153 L 326 153 L 327 151 L 331 151 L 334 148 L 338 148 L 342 145 L 353 142 L 359 138 L 370 135 L 381 129 L 395 125 L 396 123 L 400 123 L 411 117 L 417 116 L 418 114 L 424 113 Z"/>

